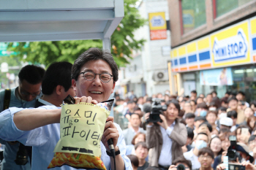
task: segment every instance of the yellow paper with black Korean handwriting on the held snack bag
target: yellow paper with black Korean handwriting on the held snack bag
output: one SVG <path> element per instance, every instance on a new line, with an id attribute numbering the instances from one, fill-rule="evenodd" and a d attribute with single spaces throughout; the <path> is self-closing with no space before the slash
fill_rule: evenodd
<path id="1" fill-rule="evenodd" d="M 94 104 L 68 104 L 61 107 L 61 139 L 54 152 L 100 156 L 100 141 L 108 112 Z"/>

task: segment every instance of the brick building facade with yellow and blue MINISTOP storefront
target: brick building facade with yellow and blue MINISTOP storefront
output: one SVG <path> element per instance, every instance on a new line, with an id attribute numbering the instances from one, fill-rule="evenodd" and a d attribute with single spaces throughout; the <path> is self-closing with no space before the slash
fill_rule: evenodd
<path id="1" fill-rule="evenodd" d="M 256 1 L 169 0 L 176 90 L 256 99 Z"/>

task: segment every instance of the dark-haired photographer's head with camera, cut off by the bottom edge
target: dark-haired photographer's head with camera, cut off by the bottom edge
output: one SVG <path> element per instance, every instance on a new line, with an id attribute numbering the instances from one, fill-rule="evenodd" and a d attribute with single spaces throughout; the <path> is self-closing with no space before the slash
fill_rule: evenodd
<path id="1" fill-rule="evenodd" d="M 188 161 L 184 156 L 180 156 L 173 161 L 168 170 L 192 170 L 191 161 Z"/>

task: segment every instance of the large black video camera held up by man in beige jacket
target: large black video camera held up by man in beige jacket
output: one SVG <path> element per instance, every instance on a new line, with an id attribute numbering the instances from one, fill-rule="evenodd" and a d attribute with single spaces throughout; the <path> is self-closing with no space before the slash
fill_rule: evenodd
<path id="1" fill-rule="evenodd" d="M 147 122 L 152 122 L 152 123 L 157 123 L 161 122 L 162 120 L 160 119 L 160 114 L 162 114 L 162 111 L 165 111 L 167 109 L 166 105 L 161 105 L 161 103 L 164 101 L 161 98 L 152 98 L 152 106 L 151 106 L 151 112 L 149 115 L 149 119 Z"/>

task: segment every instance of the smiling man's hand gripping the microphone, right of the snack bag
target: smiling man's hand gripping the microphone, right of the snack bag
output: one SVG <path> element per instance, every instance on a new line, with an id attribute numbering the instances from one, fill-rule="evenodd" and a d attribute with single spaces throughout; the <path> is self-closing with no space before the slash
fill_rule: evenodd
<path id="1" fill-rule="evenodd" d="M 114 121 L 113 117 L 109 116 L 106 121 L 107 121 L 107 123 L 105 123 L 105 129 L 104 129 L 104 132 L 102 135 L 102 143 L 104 144 L 106 150 L 110 150 L 108 148 L 108 139 L 110 139 L 110 138 L 113 139 L 113 145 L 116 148 L 119 133 L 116 128 L 116 125 L 114 125 L 114 123 L 113 123 L 113 121 Z"/>

